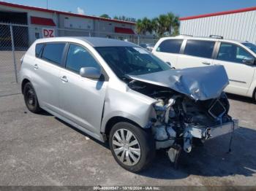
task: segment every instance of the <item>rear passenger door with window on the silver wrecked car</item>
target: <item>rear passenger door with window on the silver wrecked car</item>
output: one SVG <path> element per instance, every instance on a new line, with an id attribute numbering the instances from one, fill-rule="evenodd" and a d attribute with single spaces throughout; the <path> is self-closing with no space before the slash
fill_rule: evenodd
<path id="1" fill-rule="evenodd" d="M 36 48 L 36 59 L 34 61 L 35 88 L 42 107 L 59 111 L 59 72 L 62 67 L 63 52 L 67 43 L 50 42 L 43 44 L 42 52 L 38 53 Z M 39 47 L 42 46 L 38 45 Z"/>

